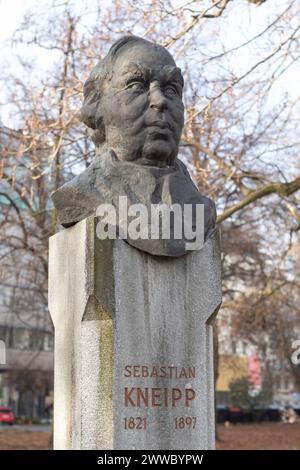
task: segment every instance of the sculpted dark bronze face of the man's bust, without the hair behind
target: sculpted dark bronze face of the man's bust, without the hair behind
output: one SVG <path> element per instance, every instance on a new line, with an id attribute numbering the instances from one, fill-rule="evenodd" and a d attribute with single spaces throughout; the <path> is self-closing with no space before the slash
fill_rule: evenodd
<path id="1" fill-rule="evenodd" d="M 182 88 L 180 70 L 163 48 L 137 43 L 120 51 L 101 104 L 106 143 L 120 160 L 174 161 L 184 120 Z"/>

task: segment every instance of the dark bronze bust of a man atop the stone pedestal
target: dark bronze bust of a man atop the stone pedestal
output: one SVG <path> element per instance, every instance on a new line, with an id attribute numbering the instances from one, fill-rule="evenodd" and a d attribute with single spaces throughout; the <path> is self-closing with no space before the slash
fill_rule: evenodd
<path id="1" fill-rule="evenodd" d="M 199 193 L 177 157 L 184 123 L 183 86 L 180 69 L 162 46 L 135 36 L 113 44 L 84 85 L 81 116 L 92 129 L 96 157 L 52 195 L 64 227 L 95 214 L 101 204 L 118 211 L 123 196 L 129 205 L 146 208 L 202 205 L 204 239 L 213 233 L 214 204 Z M 128 236 L 127 242 L 153 255 L 183 255 L 186 240 L 184 235 L 173 236 L 175 223 L 172 219 L 169 239 Z"/>

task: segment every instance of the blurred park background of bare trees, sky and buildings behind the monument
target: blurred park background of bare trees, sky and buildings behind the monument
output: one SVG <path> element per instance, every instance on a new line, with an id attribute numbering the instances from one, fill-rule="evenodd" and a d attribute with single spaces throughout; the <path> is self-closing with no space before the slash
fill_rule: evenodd
<path id="1" fill-rule="evenodd" d="M 83 82 L 127 34 L 181 67 L 180 158 L 222 222 L 218 448 L 300 449 L 297 0 L 0 0 L 0 448 L 51 447 L 49 196 L 93 159 Z"/>

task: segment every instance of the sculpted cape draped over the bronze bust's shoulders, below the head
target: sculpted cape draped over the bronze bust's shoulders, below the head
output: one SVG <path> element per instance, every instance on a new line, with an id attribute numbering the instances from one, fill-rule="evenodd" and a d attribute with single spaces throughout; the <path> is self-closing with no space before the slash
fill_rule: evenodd
<path id="1" fill-rule="evenodd" d="M 112 150 L 95 157 L 91 165 L 79 176 L 63 185 L 52 195 L 58 211 L 58 218 L 64 227 L 96 214 L 100 204 L 112 204 L 116 213 L 119 209 L 119 196 L 127 196 L 128 206 L 143 204 L 151 213 L 151 204 L 204 205 L 204 227 L 196 227 L 193 211 L 193 231 L 204 230 L 206 240 L 216 222 L 216 211 L 211 199 L 202 196 L 194 185 L 185 165 L 176 158 L 171 166 L 157 167 L 120 161 Z M 118 220 L 118 219 L 117 219 Z M 181 223 L 183 224 L 183 220 Z M 149 233 L 151 220 L 149 217 Z M 184 232 L 184 230 L 183 230 Z M 153 255 L 181 256 L 187 253 L 186 243 L 192 240 L 174 238 L 174 220 L 171 218 L 170 239 L 127 238 L 136 248 Z"/>

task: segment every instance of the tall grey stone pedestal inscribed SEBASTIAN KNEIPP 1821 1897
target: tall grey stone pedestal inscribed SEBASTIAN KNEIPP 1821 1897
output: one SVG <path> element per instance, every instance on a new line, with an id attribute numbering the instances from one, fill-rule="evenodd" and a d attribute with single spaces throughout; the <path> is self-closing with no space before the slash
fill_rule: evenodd
<path id="1" fill-rule="evenodd" d="M 214 448 L 218 232 L 153 257 L 90 217 L 50 239 L 55 449 Z"/>

